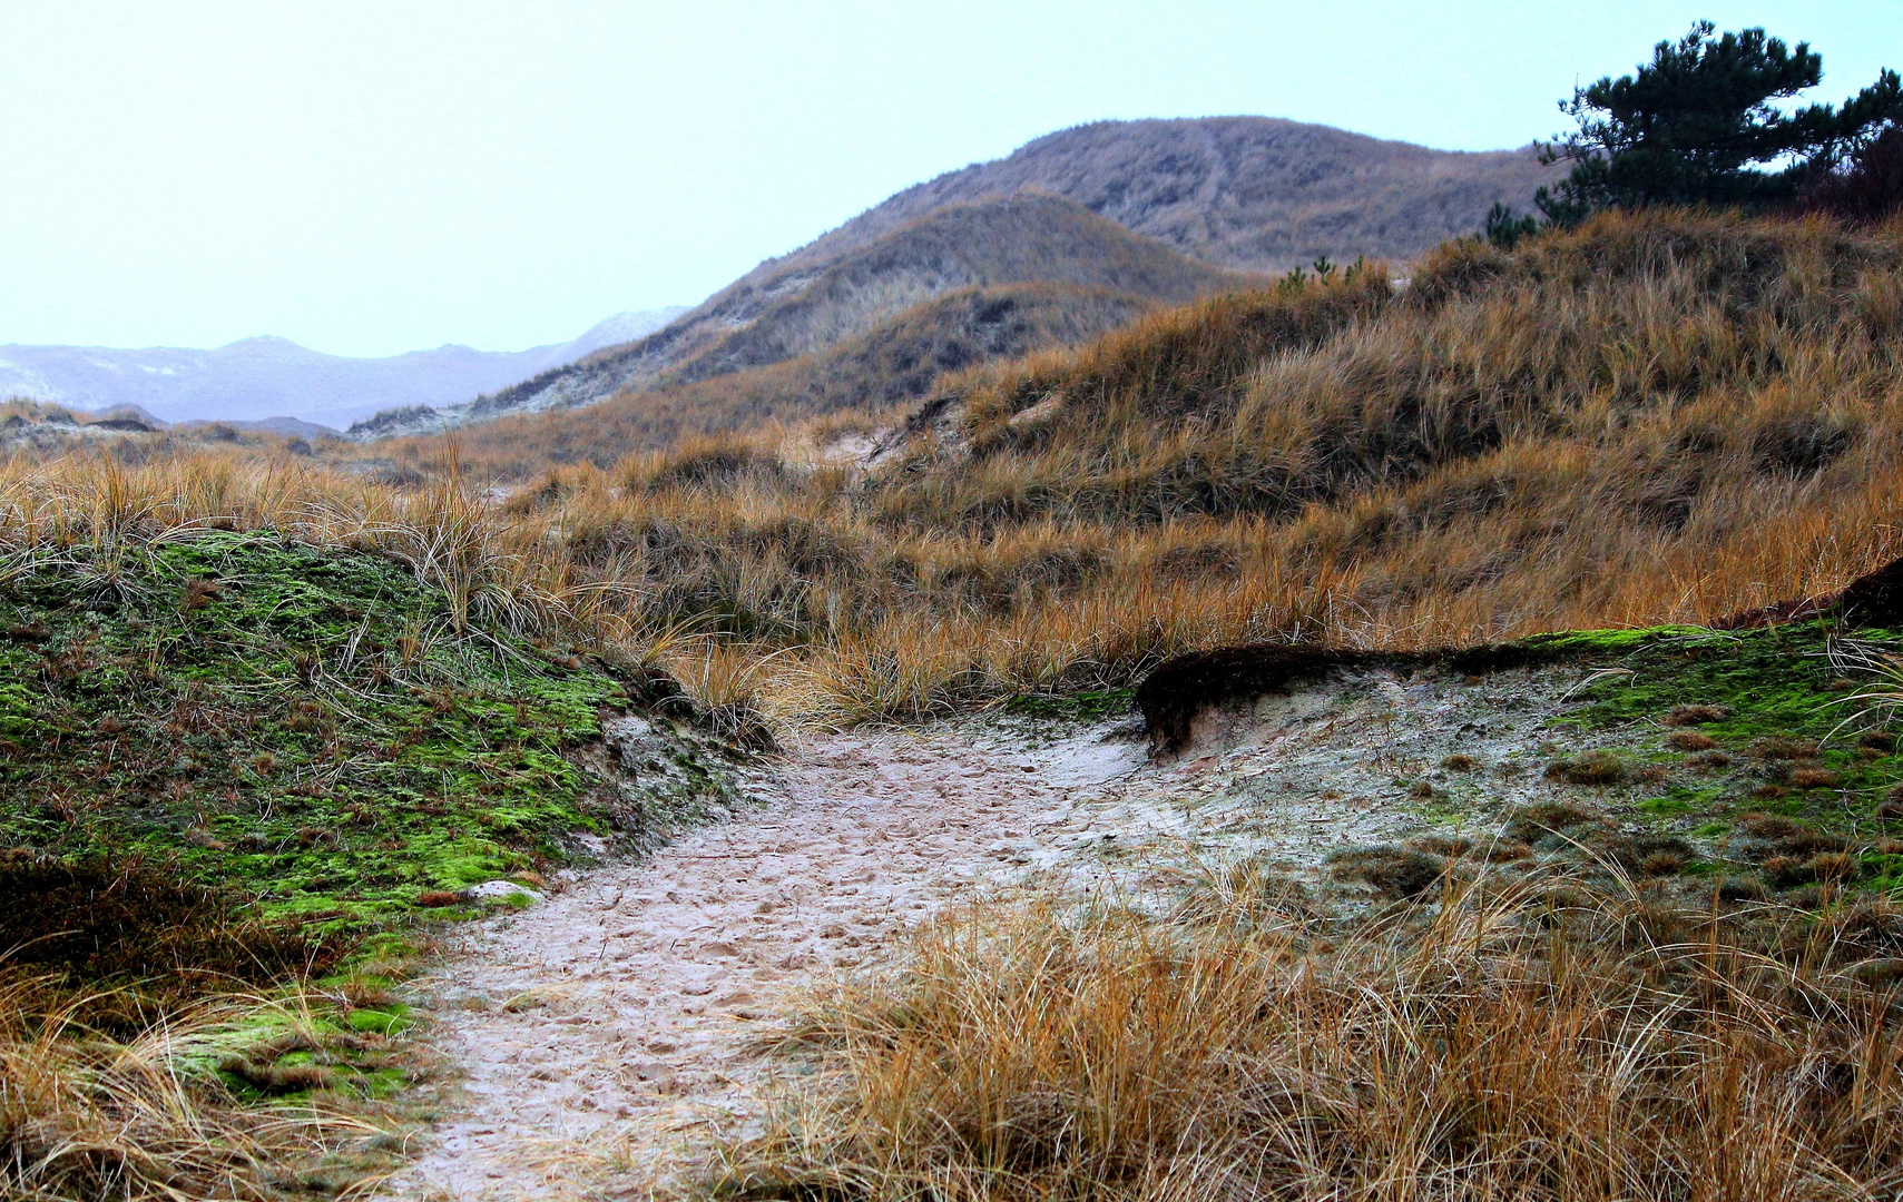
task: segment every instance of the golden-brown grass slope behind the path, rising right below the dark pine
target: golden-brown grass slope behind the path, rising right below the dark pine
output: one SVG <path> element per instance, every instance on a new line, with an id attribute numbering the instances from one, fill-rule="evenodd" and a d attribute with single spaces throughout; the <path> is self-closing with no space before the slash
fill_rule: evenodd
<path id="1" fill-rule="evenodd" d="M 1697 622 L 1840 586 L 1903 553 L 1899 333 L 1903 226 L 1608 215 L 950 377 L 870 466 L 834 449 L 860 418 L 506 500 L 432 468 L 443 443 L 409 447 L 409 489 L 242 451 L 15 462 L 0 538 L 228 514 L 400 555 L 472 622 L 670 664 L 731 715 L 913 719 L 1224 643 Z"/>

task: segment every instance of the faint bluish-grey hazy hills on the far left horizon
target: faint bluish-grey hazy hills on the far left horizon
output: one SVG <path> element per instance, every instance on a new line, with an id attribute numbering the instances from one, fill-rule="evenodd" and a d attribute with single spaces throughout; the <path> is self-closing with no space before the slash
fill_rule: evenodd
<path id="1" fill-rule="evenodd" d="M 217 350 L 0 346 L 0 397 L 78 409 L 137 405 L 166 422 L 297 418 L 344 428 L 392 405 L 449 405 L 653 333 L 683 308 L 615 314 L 571 342 L 518 352 L 438 346 L 384 359 L 244 339 Z"/>

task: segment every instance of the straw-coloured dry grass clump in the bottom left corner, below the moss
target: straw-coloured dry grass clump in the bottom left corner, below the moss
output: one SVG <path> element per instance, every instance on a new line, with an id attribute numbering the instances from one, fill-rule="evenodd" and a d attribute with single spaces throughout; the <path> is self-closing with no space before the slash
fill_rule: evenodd
<path id="1" fill-rule="evenodd" d="M 219 1048 L 240 1029 L 255 1031 L 270 1016 L 308 1027 L 295 1000 L 213 998 L 129 1038 L 78 1025 L 74 1010 L 91 1004 L 0 962 L 0 1194 L 8 1198 L 276 1198 L 301 1170 L 381 1134 L 322 1099 L 240 1105 L 211 1075 Z"/>

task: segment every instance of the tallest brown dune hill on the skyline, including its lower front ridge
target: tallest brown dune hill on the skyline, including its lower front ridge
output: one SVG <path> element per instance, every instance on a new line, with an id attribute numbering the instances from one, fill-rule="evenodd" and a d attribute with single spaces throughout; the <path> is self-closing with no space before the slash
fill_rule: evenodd
<path id="1" fill-rule="evenodd" d="M 1079 126 L 908 188 L 639 342 L 352 436 L 573 409 L 824 354 L 915 323 L 910 310 L 955 289 L 1052 281 L 1180 302 L 1323 255 L 1414 255 L 1479 228 L 1494 202 L 1524 207 L 1551 175 L 1532 148 L 1429 150 L 1258 116 Z"/>

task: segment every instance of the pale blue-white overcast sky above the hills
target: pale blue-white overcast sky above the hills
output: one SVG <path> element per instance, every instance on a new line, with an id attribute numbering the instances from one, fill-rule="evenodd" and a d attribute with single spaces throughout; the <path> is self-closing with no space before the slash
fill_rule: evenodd
<path id="1" fill-rule="evenodd" d="M 1903 0 L 0 0 L 0 342 L 558 342 L 1081 122 L 1524 145 L 1694 17 L 1903 67 Z"/>

